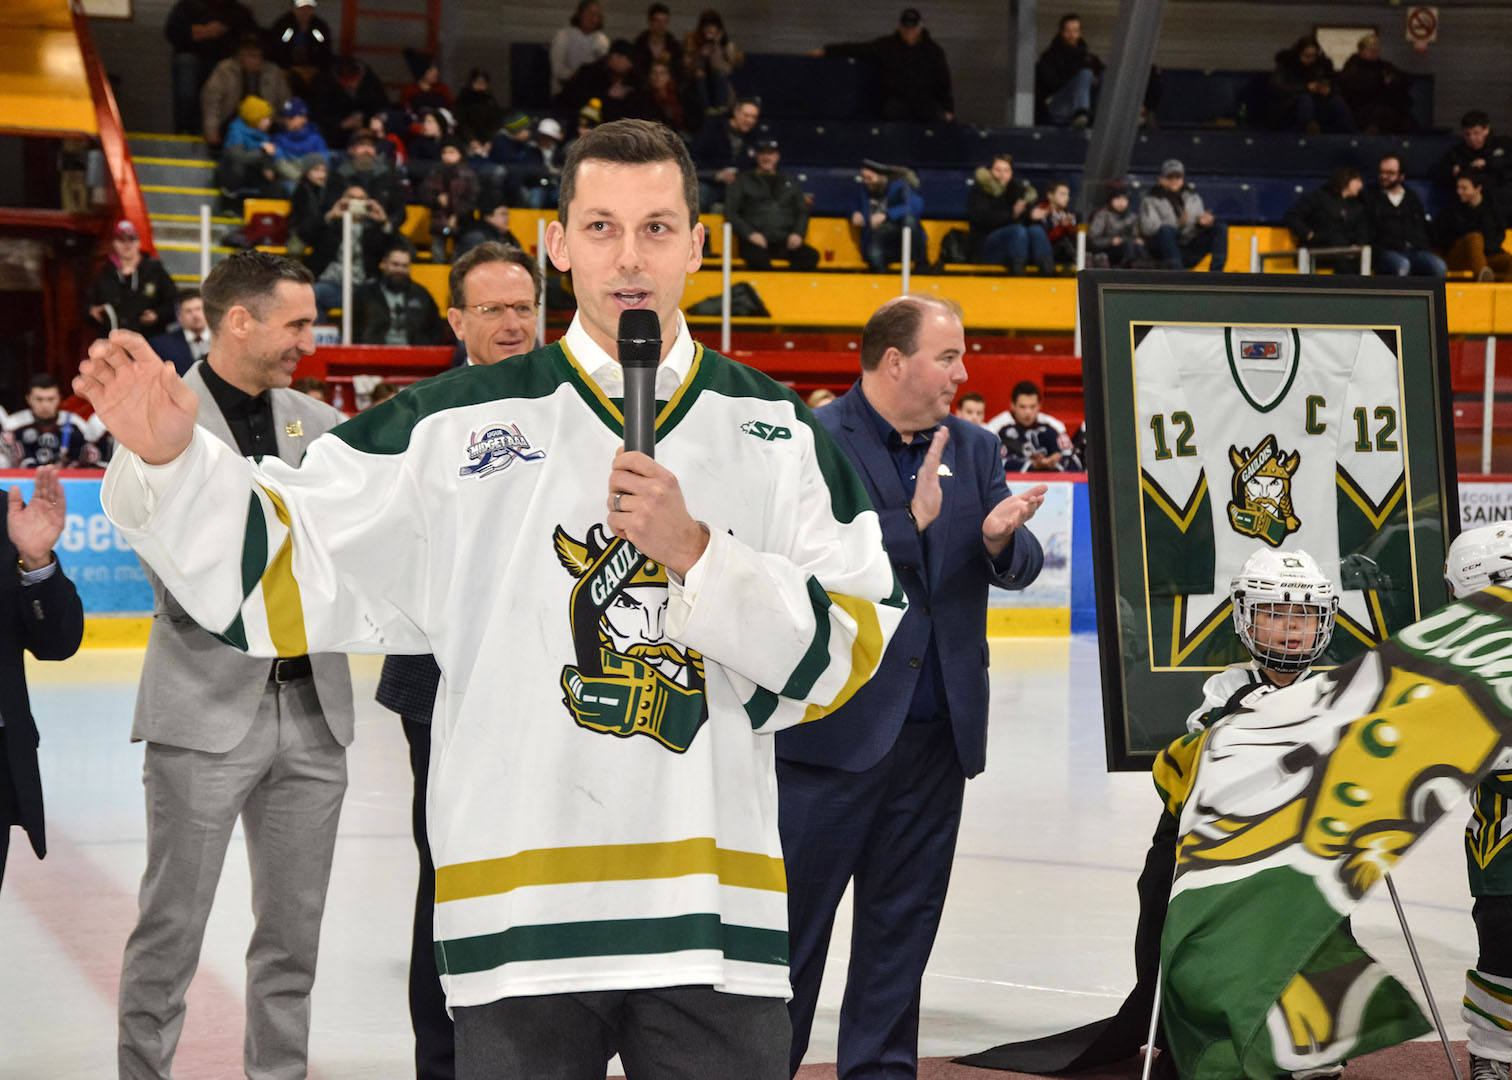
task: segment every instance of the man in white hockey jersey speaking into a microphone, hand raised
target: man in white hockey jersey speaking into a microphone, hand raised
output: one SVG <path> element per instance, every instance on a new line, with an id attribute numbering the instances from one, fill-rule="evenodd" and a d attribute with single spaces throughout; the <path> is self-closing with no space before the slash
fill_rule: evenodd
<path id="1" fill-rule="evenodd" d="M 578 139 L 547 230 L 567 334 L 417 384 L 299 467 L 197 434 L 197 399 L 135 334 L 76 380 L 121 446 L 107 513 L 198 622 L 259 655 L 435 653 L 461 1080 L 600 1080 L 614 1050 L 631 1080 L 788 1075 L 765 735 L 848 700 L 904 599 L 829 434 L 692 342 L 697 195 L 665 127 Z M 278 287 L 313 322 L 310 287 Z M 661 331 L 626 325 L 631 349 L 661 340 L 655 458 L 621 449 L 624 312 Z"/>

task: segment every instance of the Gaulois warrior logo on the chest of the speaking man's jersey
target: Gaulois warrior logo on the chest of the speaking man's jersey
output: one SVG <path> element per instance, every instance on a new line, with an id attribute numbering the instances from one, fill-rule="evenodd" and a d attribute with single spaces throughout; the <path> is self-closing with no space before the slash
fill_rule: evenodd
<path id="1" fill-rule="evenodd" d="M 559 525 L 556 558 L 572 590 L 576 664 L 562 667 L 562 703 L 588 731 L 650 735 L 685 752 L 709 717 L 703 656 L 667 638 L 667 569 L 603 525 L 575 540 Z"/>

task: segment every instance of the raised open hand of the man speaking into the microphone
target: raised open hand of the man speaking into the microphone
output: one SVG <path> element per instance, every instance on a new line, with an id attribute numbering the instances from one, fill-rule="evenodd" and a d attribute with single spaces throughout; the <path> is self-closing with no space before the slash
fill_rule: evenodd
<path id="1" fill-rule="evenodd" d="M 189 448 L 200 399 L 141 334 L 116 330 L 89 346 L 74 393 L 89 399 L 118 443 L 147 464 L 166 464 Z"/>

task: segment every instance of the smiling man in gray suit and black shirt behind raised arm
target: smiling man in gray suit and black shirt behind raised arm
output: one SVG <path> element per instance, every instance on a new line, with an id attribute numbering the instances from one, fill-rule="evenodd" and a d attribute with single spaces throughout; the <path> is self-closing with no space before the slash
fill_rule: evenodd
<path id="1" fill-rule="evenodd" d="M 198 424 L 243 455 L 298 463 L 342 414 L 286 389 L 314 351 L 314 290 L 299 263 L 260 251 L 204 281 L 213 345 L 184 377 Z M 148 570 L 151 576 L 151 570 Z M 336 824 L 346 793 L 352 684 L 340 655 L 256 659 L 201 629 L 153 581 L 153 631 L 133 740 L 147 741 L 147 873 L 121 973 L 121 1080 L 168 1080 L 184 994 L 237 817 L 256 926 L 246 951 L 245 1071 L 299 1080 Z M 268 619 L 280 619 L 268 597 Z M 298 619 L 295 619 L 298 623 Z"/>

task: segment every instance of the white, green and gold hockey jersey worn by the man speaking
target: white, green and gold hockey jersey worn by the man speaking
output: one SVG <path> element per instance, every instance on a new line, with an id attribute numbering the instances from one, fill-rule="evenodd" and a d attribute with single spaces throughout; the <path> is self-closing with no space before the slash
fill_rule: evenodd
<path id="1" fill-rule="evenodd" d="M 903 590 L 865 489 L 789 390 L 685 325 L 668 366 L 656 460 L 709 528 L 682 584 L 605 528 L 623 421 L 602 387 L 618 365 L 578 324 L 401 392 L 298 469 L 197 433 L 168 466 L 122 451 L 106 476 L 112 520 L 242 647 L 435 653 L 428 821 L 451 1006 L 789 994 L 762 735 L 871 676 Z"/>

